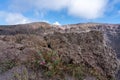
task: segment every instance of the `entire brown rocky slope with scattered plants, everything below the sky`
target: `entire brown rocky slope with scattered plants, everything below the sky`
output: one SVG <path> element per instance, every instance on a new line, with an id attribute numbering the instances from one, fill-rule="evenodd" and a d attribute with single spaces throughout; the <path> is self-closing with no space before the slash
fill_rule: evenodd
<path id="1" fill-rule="evenodd" d="M 1 26 L 0 80 L 119 80 L 118 35 L 109 24 Z"/>

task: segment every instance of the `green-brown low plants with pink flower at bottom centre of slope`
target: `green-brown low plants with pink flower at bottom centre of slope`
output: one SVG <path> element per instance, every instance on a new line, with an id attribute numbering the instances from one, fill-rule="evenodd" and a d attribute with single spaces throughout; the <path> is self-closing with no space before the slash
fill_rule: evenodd
<path id="1" fill-rule="evenodd" d="M 31 63 L 31 67 L 34 70 L 42 68 L 44 76 L 49 78 L 56 76 L 57 78 L 65 78 L 65 74 L 69 74 L 78 80 L 83 80 L 87 75 L 95 76 L 98 80 L 101 80 L 103 77 L 97 70 L 85 64 L 64 63 L 61 59 L 62 56 L 56 51 L 49 53 L 41 53 L 39 51 L 38 56 L 39 58 L 36 58 L 36 60 Z"/>

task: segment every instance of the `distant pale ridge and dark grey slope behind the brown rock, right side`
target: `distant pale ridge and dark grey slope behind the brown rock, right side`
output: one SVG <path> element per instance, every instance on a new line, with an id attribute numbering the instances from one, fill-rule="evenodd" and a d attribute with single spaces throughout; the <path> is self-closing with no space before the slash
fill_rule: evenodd
<path id="1" fill-rule="evenodd" d="M 104 38 L 109 46 L 111 46 L 117 57 L 120 58 L 120 25 L 119 24 L 99 24 L 99 23 L 86 23 L 86 24 L 73 24 L 65 25 L 68 32 L 81 32 L 81 31 L 90 31 L 97 30 L 101 31 L 104 34 Z"/>

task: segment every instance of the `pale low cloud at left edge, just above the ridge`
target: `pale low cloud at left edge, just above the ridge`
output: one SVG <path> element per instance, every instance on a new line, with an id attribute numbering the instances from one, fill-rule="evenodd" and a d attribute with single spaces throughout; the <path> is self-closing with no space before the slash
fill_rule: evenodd
<path id="1" fill-rule="evenodd" d="M 24 24 L 31 22 L 30 19 L 20 13 L 10 13 L 5 11 L 0 11 L 0 19 L 6 24 Z"/>

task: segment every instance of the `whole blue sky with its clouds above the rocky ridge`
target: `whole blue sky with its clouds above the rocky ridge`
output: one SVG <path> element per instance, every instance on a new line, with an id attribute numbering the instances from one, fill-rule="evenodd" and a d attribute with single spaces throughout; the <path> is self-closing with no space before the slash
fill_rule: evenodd
<path id="1" fill-rule="evenodd" d="M 120 23 L 120 0 L 0 0 L 0 24 Z"/>

